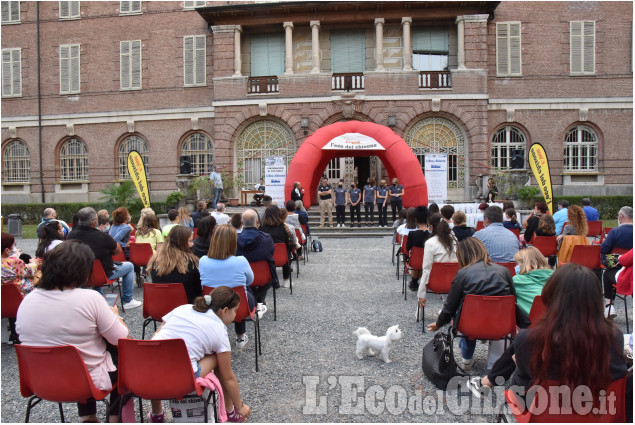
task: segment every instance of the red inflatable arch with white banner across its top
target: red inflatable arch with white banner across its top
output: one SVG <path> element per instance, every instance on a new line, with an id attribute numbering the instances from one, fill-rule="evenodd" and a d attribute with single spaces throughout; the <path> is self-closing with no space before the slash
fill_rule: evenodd
<path id="1" fill-rule="evenodd" d="M 338 149 L 342 140 L 346 141 L 347 148 Z M 355 149 L 363 144 L 371 146 L 371 149 Z M 308 189 L 305 205 L 315 203 L 317 187 L 329 161 L 344 156 L 379 157 L 390 180 L 397 177 L 404 186 L 404 207 L 428 205 L 426 179 L 410 146 L 390 128 L 361 121 L 338 122 L 322 127 L 302 143 L 289 165 L 285 200 L 291 199 L 293 183 L 299 181 L 305 190 Z M 360 184 L 363 185 L 362 182 Z"/>

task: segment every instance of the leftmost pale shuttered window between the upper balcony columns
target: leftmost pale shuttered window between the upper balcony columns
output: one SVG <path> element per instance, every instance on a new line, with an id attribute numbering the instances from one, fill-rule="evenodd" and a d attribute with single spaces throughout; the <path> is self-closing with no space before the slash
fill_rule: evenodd
<path id="1" fill-rule="evenodd" d="M 251 39 L 251 76 L 284 73 L 284 34 L 262 34 Z"/>

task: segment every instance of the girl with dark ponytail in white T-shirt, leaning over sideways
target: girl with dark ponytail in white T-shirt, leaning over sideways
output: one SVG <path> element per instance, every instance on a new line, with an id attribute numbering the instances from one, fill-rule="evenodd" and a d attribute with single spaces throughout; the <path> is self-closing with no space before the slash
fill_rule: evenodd
<path id="1" fill-rule="evenodd" d="M 194 304 L 184 304 L 163 316 L 163 323 L 152 337 L 183 339 L 195 377 L 214 371 L 223 388 L 229 422 L 244 422 L 251 409 L 243 403 L 238 380 L 232 369 L 231 345 L 227 325 L 234 321 L 240 296 L 227 286 L 218 286 L 211 295 L 197 297 Z M 152 400 L 148 422 L 163 422 L 161 400 Z"/>

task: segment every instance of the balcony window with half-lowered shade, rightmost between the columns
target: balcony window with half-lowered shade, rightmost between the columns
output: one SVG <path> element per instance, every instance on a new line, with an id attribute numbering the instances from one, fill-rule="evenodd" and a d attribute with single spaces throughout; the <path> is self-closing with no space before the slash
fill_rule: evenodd
<path id="1" fill-rule="evenodd" d="M 412 66 L 418 71 L 444 71 L 448 67 L 448 30 L 416 29 L 412 35 Z"/>

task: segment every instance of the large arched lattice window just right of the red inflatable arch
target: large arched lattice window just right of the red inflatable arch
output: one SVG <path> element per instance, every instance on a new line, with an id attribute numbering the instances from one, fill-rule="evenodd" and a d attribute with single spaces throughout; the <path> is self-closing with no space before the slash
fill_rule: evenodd
<path id="1" fill-rule="evenodd" d="M 465 187 L 465 139 L 452 121 L 432 117 L 416 123 L 406 135 L 406 142 L 425 166 L 426 154 L 448 155 L 448 188 Z"/>

